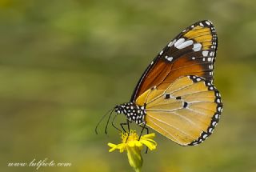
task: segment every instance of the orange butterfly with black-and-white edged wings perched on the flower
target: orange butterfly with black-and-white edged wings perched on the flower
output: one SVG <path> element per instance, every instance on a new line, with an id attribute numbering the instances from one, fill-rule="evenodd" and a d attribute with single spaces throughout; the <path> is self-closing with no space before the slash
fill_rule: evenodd
<path id="1" fill-rule="evenodd" d="M 217 45 L 209 20 L 187 27 L 146 68 L 130 102 L 114 111 L 181 146 L 203 142 L 222 113 L 221 95 L 213 84 Z"/>

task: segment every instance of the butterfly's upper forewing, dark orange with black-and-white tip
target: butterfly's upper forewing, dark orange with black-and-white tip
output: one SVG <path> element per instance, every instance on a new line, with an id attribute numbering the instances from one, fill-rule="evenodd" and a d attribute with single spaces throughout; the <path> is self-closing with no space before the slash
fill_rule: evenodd
<path id="1" fill-rule="evenodd" d="M 130 102 L 153 86 L 165 89 L 181 76 L 197 75 L 212 81 L 216 50 L 217 35 L 210 21 L 187 27 L 146 68 Z"/>

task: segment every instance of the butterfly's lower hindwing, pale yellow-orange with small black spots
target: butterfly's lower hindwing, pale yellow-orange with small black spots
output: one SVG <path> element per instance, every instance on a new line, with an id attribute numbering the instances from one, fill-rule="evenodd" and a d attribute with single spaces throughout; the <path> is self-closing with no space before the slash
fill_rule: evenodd
<path id="1" fill-rule="evenodd" d="M 203 142 L 214 130 L 222 111 L 218 90 L 205 78 L 176 79 L 165 90 L 154 87 L 140 95 L 146 105 L 146 125 L 182 146 Z"/>

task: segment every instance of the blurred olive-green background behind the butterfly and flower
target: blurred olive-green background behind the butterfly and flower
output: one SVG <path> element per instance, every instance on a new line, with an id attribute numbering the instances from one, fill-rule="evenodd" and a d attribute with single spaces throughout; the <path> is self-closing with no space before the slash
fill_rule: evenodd
<path id="1" fill-rule="evenodd" d="M 210 19 L 218 32 L 215 85 L 224 110 L 200 146 L 162 137 L 143 171 L 256 171 L 256 2 L 0 1 L 0 169 L 49 158 L 70 167 L 38 171 L 133 171 L 99 118 L 130 100 L 142 72 L 186 26 Z M 125 118 L 120 116 L 118 121 Z"/>

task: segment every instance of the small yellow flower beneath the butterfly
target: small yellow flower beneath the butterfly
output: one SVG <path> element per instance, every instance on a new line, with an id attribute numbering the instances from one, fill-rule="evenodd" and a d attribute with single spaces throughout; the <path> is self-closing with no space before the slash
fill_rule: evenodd
<path id="1" fill-rule="evenodd" d="M 122 143 L 116 145 L 109 142 L 109 152 L 119 150 L 120 153 L 122 153 L 126 150 L 130 166 L 134 167 L 135 171 L 140 171 L 143 163 L 141 154 L 142 146 L 145 145 L 149 150 L 155 150 L 157 142 L 152 139 L 154 136 L 154 133 L 146 134 L 142 135 L 142 137 L 138 140 L 139 137 L 135 130 L 130 130 L 130 134 L 122 132 Z"/>

